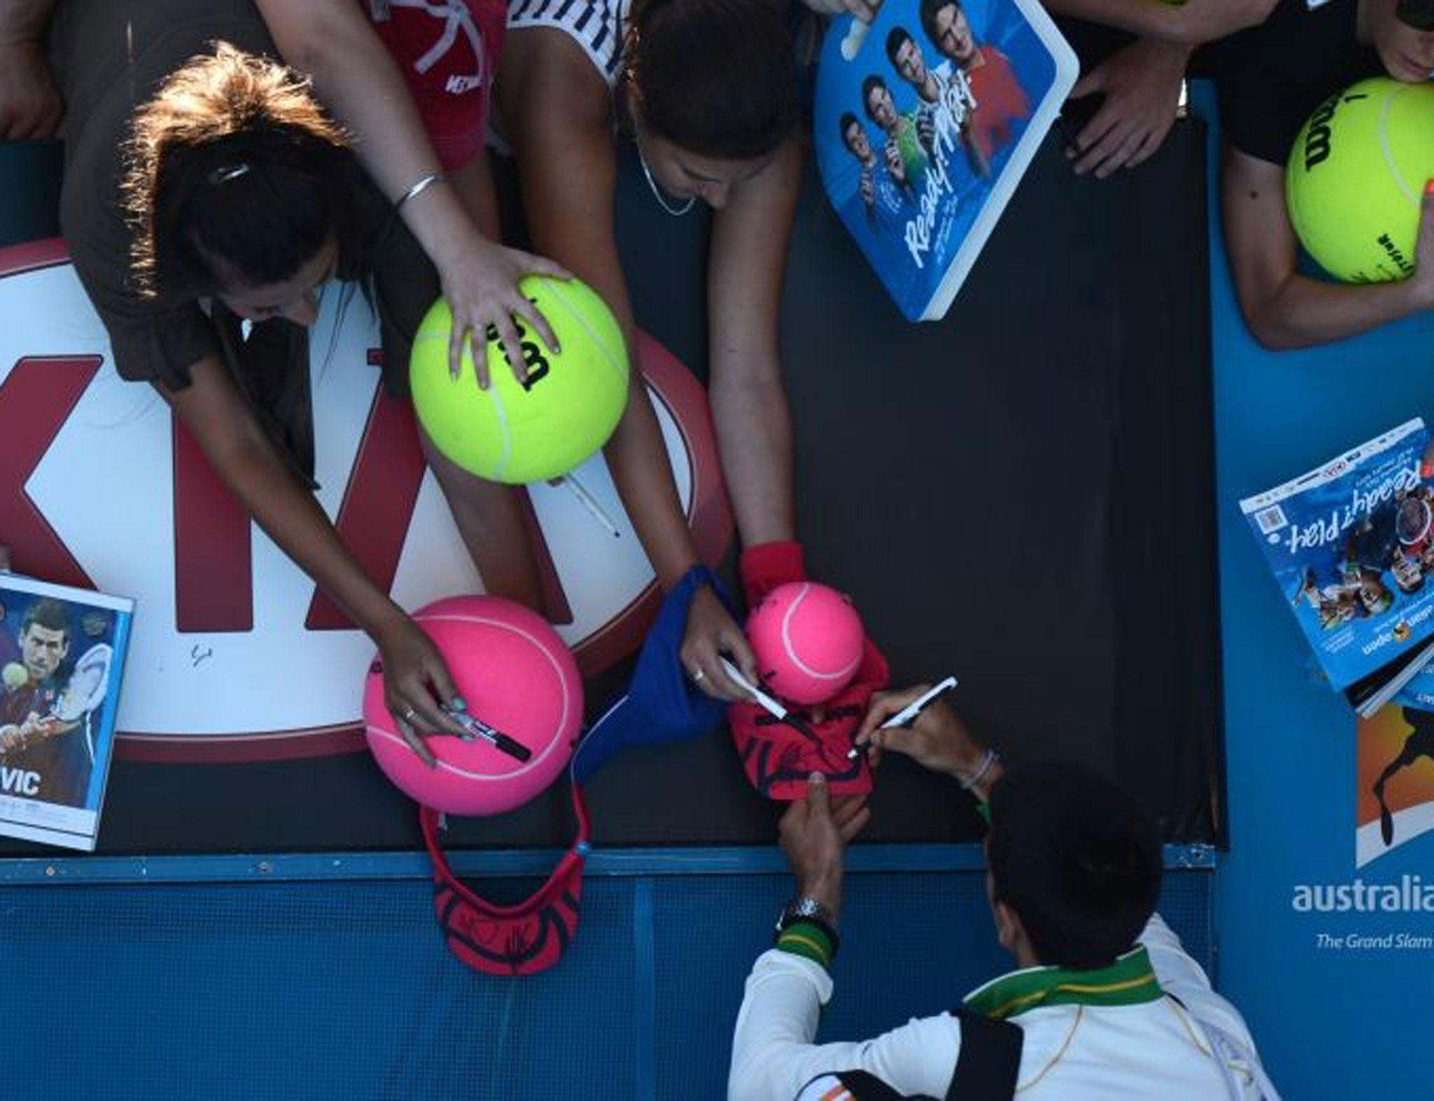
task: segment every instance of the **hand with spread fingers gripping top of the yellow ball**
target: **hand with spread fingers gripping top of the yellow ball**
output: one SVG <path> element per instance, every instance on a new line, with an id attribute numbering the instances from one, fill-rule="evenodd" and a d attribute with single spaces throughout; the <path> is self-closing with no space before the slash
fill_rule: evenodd
<path id="1" fill-rule="evenodd" d="M 508 363 L 518 381 L 528 381 L 528 363 L 523 358 L 523 335 L 521 323 L 526 321 L 542 337 L 552 351 L 561 351 L 558 338 L 538 308 L 518 290 L 523 275 L 548 275 L 555 280 L 571 280 L 572 274 L 561 264 L 543 257 L 535 257 L 516 248 L 506 248 L 476 231 L 460 245 L 435 257 L 439 278 L 443 282 L 443 297 L 453 310 L 453 333 L 449 338 L 449 371 L 455 378 L 463 363 L 463 338 L 473 341 L 473 370 L 478 384 L 486 390 L 489 331 L 503 343 Z"/>

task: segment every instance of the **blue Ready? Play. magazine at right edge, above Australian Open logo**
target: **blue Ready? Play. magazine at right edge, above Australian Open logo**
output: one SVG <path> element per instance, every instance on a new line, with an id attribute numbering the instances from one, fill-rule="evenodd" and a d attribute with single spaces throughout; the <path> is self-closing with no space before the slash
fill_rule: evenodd
<path id="1" fill-rule="evenodd" d="M 1418 672 L 1434 637 L 1428 442 L 1414 419 L 1240 502 L 1329 682 L 1368 690 L 1351 697 L 1361 712 Z"/>

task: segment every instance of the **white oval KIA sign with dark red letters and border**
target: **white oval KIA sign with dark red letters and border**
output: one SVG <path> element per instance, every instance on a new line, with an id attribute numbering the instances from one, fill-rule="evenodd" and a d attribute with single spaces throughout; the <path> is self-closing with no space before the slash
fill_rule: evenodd
<path id="1" fill-rule="evenodd" d="M 412 409 L 379 384 L 377 323 L 338 298 L 311 337 L 318 503 L 404 608 L 479 592 Z M 640 353 L 698 552 L 716 561 L 731 516 L 706 394 L 655 341 Z M 637 648 L 660 594 L 602 456 L 575 476 L 581 495 L 526 492 L 555 626 L 592 674 Z M 361 748 L 373 644 L 258 530 L 158 394 L 119 378 L 60 241 L 0 249 L 0 539 L 19 572 L 135 598 L 123 756 Z"/>

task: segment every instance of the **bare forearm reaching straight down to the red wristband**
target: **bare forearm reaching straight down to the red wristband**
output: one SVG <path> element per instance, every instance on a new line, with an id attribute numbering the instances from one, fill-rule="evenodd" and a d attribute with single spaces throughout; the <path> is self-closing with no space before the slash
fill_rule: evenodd
<path id="1" fill-rule="evenodd" d="M 792 417 L 782 384 L 777 323 L 803 149 L 733 191 L 713 219 L 708 366 L 713 420 L 737 529 L 747 546 L 793 539 Z"/>

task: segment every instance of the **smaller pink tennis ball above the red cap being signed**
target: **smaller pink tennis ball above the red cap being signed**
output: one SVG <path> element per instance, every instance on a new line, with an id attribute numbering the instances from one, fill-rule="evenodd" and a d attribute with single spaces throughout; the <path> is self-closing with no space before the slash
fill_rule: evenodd
<path id="1" fill-rule="evenodd" d="M 810 581 L 779 585 L 747 616 L 763 682 L 793 704 L 826 702 L 850 684 L 865 637 L 852 602 Z"/>

